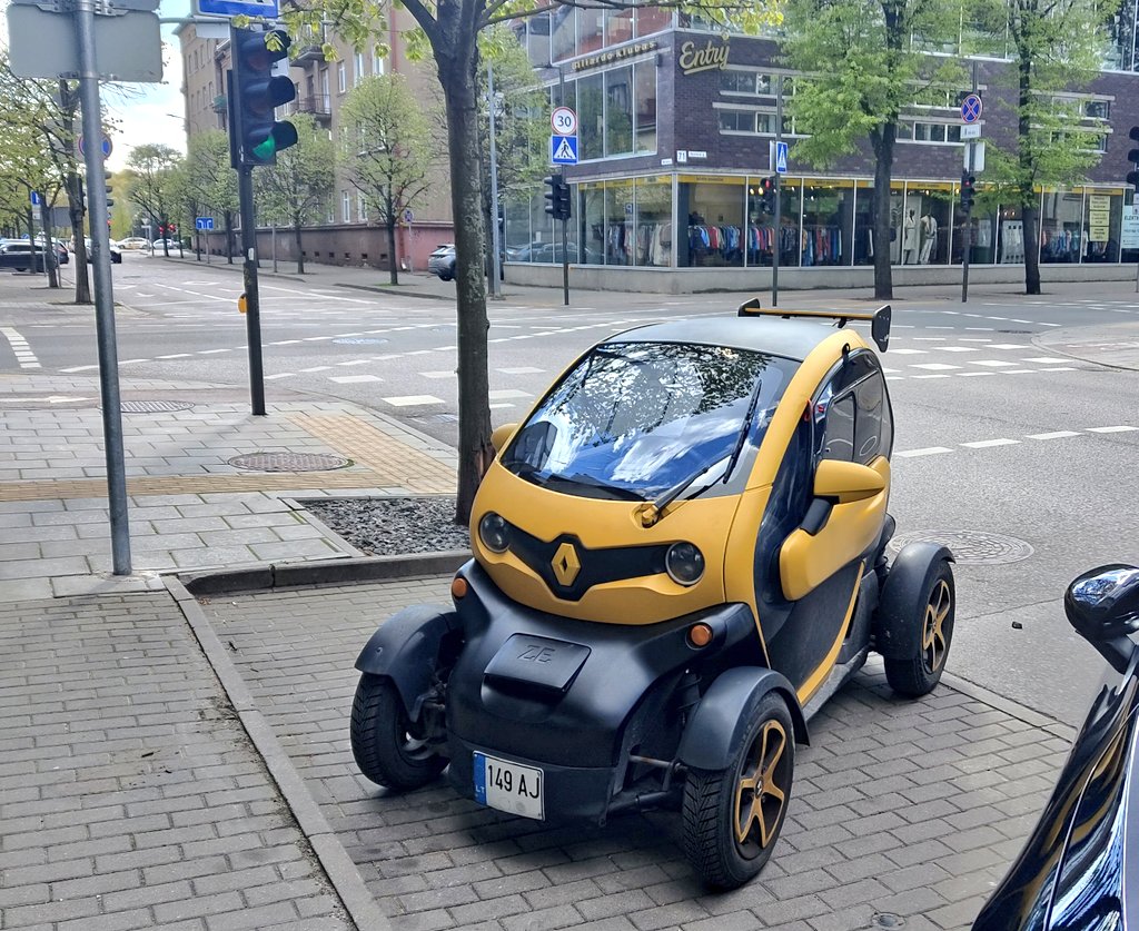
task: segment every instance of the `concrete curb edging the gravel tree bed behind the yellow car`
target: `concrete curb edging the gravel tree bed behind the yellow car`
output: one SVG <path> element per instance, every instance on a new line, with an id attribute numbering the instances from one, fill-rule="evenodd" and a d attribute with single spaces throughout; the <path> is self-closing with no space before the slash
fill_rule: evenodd
<path id="1" fill-rule="evenodd" d="M 304 563 L 265 563 L 221 572 L 177 573 L 174 578 L 194 596 L 224 595 L 302 585 L 343 585 L 450 575 L 467 560 L 466 550 L 417 553 L 410 556 L 362 556 Z"/>

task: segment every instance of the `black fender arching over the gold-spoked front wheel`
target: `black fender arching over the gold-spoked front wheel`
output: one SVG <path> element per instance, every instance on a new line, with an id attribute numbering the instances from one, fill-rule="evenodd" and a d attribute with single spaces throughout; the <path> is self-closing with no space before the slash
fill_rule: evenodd
<path id="1" fill-rule="evenodd" d="M 726 769 L 744 741 L 760 702 L 777 693 L 787 703 L 795 743 L 810 744 L 806 719 L 792 684 L 773 669 L 737 665 L 721 672 L 685 727 L 677 758 L 696 769 Z"/>

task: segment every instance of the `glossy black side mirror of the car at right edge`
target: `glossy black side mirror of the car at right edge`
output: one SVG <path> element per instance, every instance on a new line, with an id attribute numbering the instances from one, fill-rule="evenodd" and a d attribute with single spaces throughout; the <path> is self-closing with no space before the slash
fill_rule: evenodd
<path id="1" fill-rule="evenodd" d="M 1128 637 L 1139 630 L 1139 569 L 1112 563 L 1084 572 L 1064 594 L 1064 613 L 1081 637 L 1124 672 L 1136 648 Z"/>

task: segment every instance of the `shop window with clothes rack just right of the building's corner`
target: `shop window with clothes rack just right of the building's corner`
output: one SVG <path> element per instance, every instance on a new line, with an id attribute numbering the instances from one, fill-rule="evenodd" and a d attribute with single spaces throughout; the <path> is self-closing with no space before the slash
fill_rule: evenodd
<path id="1" fill-rule="evenodd" d="M 686 231 L 677 262 L 687 268 L 743 266 L 747 248 L 743 179 L 681 182 L 680 215 Z"/>

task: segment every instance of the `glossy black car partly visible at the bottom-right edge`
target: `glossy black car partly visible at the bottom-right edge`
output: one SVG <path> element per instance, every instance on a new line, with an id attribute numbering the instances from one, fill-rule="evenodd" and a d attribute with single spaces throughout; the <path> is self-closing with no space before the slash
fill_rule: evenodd
<path id="1" fill-rule="evenodd" d="M 973 931 L 1139 929 L 1139 569 L 1084 573 L 1064 610 L 1108 670 L 1040 822 Z"/>

